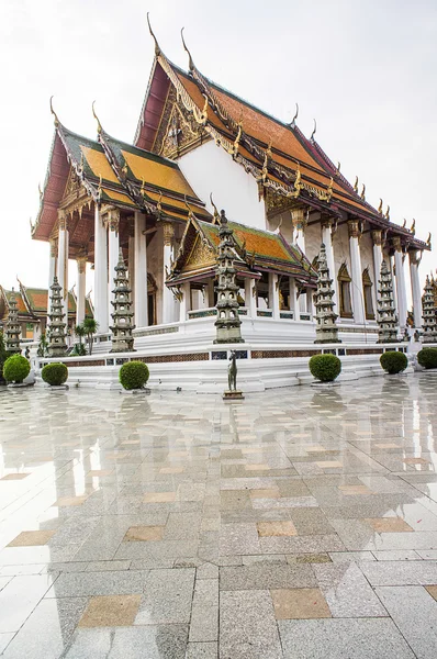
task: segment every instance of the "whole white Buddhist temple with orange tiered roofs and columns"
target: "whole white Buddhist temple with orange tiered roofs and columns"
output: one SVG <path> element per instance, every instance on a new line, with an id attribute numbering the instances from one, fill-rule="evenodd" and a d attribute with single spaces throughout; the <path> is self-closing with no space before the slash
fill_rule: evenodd
<path id="1" fill-rule="evenodd" d="M 349 182 L 316 141 L 210 80 L 188 53 L 172 64 L 154 33 L 155 58 L 133 144 L 97 120 L 90 139 L 67 129 L 55 110 L 55 135 L 32 227 L 51 244 L 48 281 L 68 291 L 77 261 L 77 313 L 83 317 L 86 264 L 94 271 L 99 350 L 111 348 L 113 279 L 121 250 L 128 268 L 135 349 L 172 334 L 214 338 L 217 314 L 217 208 L 234 235 L 242 336 L 264 347 L 315 340 L 316 260 L 324 244 L 333 313 L 341 343 L 378 340 L 378 281 L 393 276 L 400 336 L 407 324 L 406 267 L 414 327 L 422 327 L 418 264 L 430 236 L 374 208 L 366 187 Z M 64 293 L 65 311 L 67 298 Z M 176 336 L 178 335 L 178 336 Z M 183 338 L 183 340 L 182 340 Z M 148 339 L 150 339 L 148 342 Z M 167 344 L 166 344 L 167 345 Z M 176 344 L 175 344 L 176 345 Z M 285 350 L 287 351 L 287 350 Z M 268 351 L 266 351 L 267 355 Z M 210 354 L 211 356 L 211 354 Z"/>

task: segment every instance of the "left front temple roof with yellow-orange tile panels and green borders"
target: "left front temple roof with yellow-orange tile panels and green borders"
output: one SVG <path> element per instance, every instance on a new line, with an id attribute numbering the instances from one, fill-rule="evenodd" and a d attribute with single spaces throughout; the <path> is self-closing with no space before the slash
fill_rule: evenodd
<path id="1" fill-rule="evenodd" d="M 211 217 L 177 163 L 120 142 L 102 130 L 97 142 L 72 133 L 58 121 L 55 125 L 41 208 L 32 227 L 34 238 L 51 237 L 71 172 L 89 196 L 89 203 L 155 214 L 159 211 L 161 216 L 178 221 L 186 221 L 192 206 L 200 216 Z"/>

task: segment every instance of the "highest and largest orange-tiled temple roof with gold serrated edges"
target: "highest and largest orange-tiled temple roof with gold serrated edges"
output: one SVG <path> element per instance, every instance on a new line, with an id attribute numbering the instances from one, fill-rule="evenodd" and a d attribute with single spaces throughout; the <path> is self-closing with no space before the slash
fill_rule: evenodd
<path id="1" fill-rule="evenodd" d="M 191 56 L 187 74 L 157 48 L 136 131 L 137 145 L 155 149 L 171 86 L 199 126 L 264 189 L 333 215 L 346 211 L 368 220 L 374 228 L 402 236 L 406 245 L 429 249 L 429 241 L 418 241 L 414 231 L 392 223 L 389 210 L 383 214 L 382 209 L 369 204 L 363 192 L 358 193 L 357 186 L 347 181 L 314 136 L 303 135 L 295 121 L 285 124 L 213 82 L 199 71 Z"/>

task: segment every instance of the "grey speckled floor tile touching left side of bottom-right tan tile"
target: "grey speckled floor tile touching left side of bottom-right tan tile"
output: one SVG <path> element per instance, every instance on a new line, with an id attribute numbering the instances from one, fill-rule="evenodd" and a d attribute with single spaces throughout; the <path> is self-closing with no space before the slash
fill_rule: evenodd
<path id="1" fill-rule="evenodd" d="M 268 591 L 224 592 L 220 603 L 220 659 L 282 659 Z"/>

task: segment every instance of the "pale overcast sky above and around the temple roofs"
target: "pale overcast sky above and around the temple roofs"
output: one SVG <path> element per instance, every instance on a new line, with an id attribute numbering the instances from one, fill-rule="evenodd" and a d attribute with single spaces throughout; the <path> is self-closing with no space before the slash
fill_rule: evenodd
<path id="1" fill-rule="evenodd" d="M 154 56 L 147 11 L 172 62 L 187 68 L 184 26 L 203 74 L 284 121 L 299 102 L 301 130 L 316 118 L 318 143 L 367 199 L 437 241 L 436 0 L 1 0 L 1 284 L 47 286 L 48 246 L 31 239 L 30 217 L 51 94 L 68 129 L 96 137 L 96 99 L 105 131 L 132 142 Z M 422 278 L 436 266 L 425 254 Z"/>

